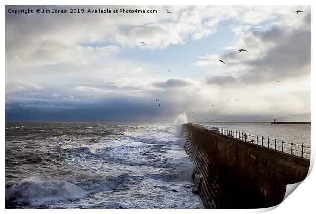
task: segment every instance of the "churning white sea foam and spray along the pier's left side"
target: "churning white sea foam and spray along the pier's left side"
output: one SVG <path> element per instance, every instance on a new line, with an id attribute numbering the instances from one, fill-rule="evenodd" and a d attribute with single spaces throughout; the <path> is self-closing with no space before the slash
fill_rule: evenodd
<path id="1" fill-rule="evenodd" d="M 174 124 L 128 124 L 117 135 L 50 138 L 58 143 L 62 164 L 45 178 L 31 177 L 6 189 L 6 203 L 23 202 L 30 208 L 202 208 L 190 189 L 195 165 L 177 135 L 185 122 L 183 113 Z M 105 127 L 115 133 L 113 126 Z"/>

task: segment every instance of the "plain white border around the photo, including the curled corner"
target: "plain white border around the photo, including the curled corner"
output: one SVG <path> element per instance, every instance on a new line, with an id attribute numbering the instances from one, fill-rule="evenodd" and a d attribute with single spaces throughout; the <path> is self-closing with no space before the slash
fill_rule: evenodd
<path id="1" fill-rule="evenodd" d="M 90 1 L 82 1 L 82 0 L 68 0 L 67 2 L 65 0 L 55 0 L 55 1 L 39 1 L 39 0 L 32 0 L 32 1 L 22 1 L 22 0 L 16 0 L 16 1 L 2 1 L 2 29 L 5 29 L 5 5 L 311 5 L 311 9 L 313 8 L 313 2 L 307 1 L 307 0 L 301 0 L 301 1 L 275 1 L 275 0 L 266 0 L 266 1 L 249 1 L 249 0 L 242 0 L 242 1 L 232 1 L 232 0 L 221 0 L 221 1 L 189 1 L 189 0 L 182 0 L 175 1 L 175 0 L 155 0 L 155 1 L 144 1 L 144 0 L 134 0 L 134 1 L 123 1 L 123 0 L 111 0 L 111 1 L 100 1 L 100 0 L 90 0 Z M 314 23 L 313 15 L 311 15 L 311 23 Z M 313 29 L 314 26 L 311 25 L 311 34 L 313 35 Z M 3 79 L 3 85 L 1 87 L 2 93 L 1 93 L 1 99 L 3 100 L 3 104 L 1 105 L 1 112 L 2 112 L 2 123 L 1 123 L 1 130 L 2 130 L 2 158 L 3 158 L 3 169 L 1 171 L 1 179 L 2 179 L 2 208 L 5 209 L 5 33 L 1 34 L 2 36 L 2 51 L 1 51 L 1 59 L 2 59 L 2 78 Z M 313 37 L 311 37 L 313 38 Z M 314 51 L 314 42 L 311 40 L 311 56 L 313 56 Z M 313 70 L 313 58 L 311 57 L 311 70 Z M 311 81 L 312 83 L 315 82 L 313 71 L 311 71 Z M 311 84 L 311 96 L 313 97 L 314 92 L 314 86 Z M 314 99 L 311 99 L 311 109 L 313 109 L 313 106 L 315 106 Z M 314 146 L 314 115 L 311 114 L 311 147 L 312 147 L 312 154 L 311 154 L 311 164 L 314 163 L 315 158 L 315 151 L 313 149 Z M 312 168 L 312 166 L 311 166 Z M 298 186 L 298 188 L 290 194 L 279 206 L 274 207 L 275 209 L 271 210 L 272 208 L 267 209 L 216 209 L 216 210 L 183 210 L 183 209 L 175 209 L 175 210 L 167 210 L 167 209 L 141 209 L 141 210 L 103 210 L 103 209 L 89 209 L 89 210 L 83 210 L 83 209 L 63 209 L 63 210 L 56 210 L 56 209 L 45 209 L 45 210 L 34 210 L 34 209 L 27 209 L 27 210 L 5 210 L 8 213 L 32 213 L 32 212 L 76 212 L 76 213 L 84 213 L 84 212 L 93 212 L 93 213 L 104 213 L 104 212 L 111 212 L 111 213 L 122 213 L 122 212 L 129 212 L 129 213 L 160 213 L 160 212 L 176 212 L 176 213 L 192 213 L 192 212 L 216 212 L 216 213 L 261 213 L 270 211 L 270 213 L 310 213 L 311 210 L 315 210 L 314 205 L 314 196 L 315 196 L 315 172 L 311 172 L 309 176 Z"/>

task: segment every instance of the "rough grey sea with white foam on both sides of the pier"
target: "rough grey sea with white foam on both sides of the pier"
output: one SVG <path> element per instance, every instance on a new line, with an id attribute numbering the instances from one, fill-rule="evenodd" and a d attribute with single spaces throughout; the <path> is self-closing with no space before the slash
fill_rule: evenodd
<path id="1" fill-rule="evenodd" d="M 175 122 L 6 123 L 6 208 L 204 208 Z M 201 123 L 310 146 L 310 125 Z"/>

